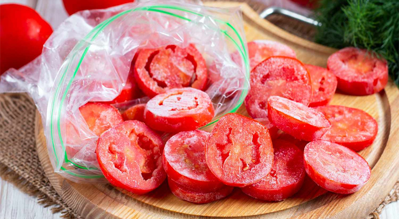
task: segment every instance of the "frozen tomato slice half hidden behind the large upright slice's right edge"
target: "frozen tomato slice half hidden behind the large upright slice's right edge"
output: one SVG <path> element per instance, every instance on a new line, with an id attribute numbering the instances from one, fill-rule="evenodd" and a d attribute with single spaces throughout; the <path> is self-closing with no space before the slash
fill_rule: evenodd
<path id="1" fill-rule="evenodd" d="M 337 89 L 337 77 L 325 68 L 305 65 L 312 81 L 312 97 L 309 107 L 327 105 Z"/>

